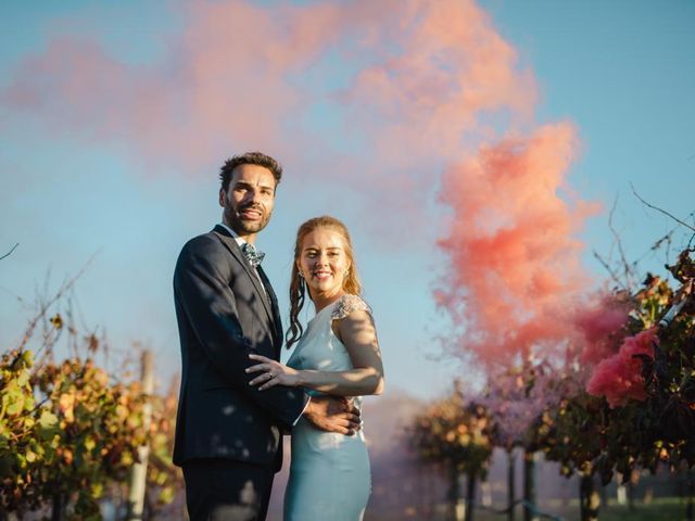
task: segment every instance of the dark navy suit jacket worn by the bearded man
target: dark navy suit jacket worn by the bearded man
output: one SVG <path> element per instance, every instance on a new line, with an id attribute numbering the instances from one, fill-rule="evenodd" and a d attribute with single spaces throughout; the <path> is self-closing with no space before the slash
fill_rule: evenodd
<path id="1" fill-rule="evenodd" d="M 282 431 L 308 397 L 299 387 L 250 386 L 256 353 L 279 359 L 277 298 L 222 226 L 191 239 L 176 263 L 174 302 L 181 342 L 181 389 L 174 462 L 225 458 L 280 468 Z M 265 291 L 263 285 L 265 287 Z"/>

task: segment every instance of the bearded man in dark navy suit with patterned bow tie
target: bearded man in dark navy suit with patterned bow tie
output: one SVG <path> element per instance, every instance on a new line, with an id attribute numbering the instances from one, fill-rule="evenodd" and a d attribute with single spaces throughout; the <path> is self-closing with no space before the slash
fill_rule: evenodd
<path id="1" fill-rule="evenodd" d="M 278 359 L 277 298 L 252 246 L 273 214 L 282 168 L 260 152 L 220 170 L 223 223 L 190 240 L 174 272 L 181 342 L 181 389 L 174 462 L 184 469 L 192 521 L 264 520 L 280 468 L 282 431 L 304 415 L 351 434 L 358 412 L 346 402 L 309 401 L 296 387 L 249 385 L 249 354 Z"/>

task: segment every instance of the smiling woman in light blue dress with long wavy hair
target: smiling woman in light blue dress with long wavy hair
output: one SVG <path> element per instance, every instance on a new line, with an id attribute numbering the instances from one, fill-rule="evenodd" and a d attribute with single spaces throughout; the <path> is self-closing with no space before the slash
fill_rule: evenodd
<path id="1" fill-rule="evenodd" d="M 305 291 L 316 315 L 304 331 L 299 314 Z M 285 366 L 250 355 L 260 390 L 302 386 L 311 394 L 381 394 L 383 368 L 369 306 L 359 297 L 350 233 L 333 217 L 304 223 L 298 233 L 290 285 L 287 344 L 298 346 Z M 371 480 L 364 432 L 353 436 L 324 432 L 300 419 L 292 430 L 292 463 L 285 493 L 285 520 L 361 520 Z"/>

